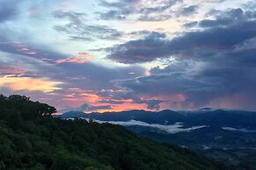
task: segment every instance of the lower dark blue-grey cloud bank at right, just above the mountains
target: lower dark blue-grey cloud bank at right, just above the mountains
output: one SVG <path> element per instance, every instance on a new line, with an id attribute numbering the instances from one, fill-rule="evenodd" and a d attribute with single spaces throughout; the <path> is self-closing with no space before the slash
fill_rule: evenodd
<path id="1" fill-rule="evenodd" d="M 253 78 L 256 49 L 252 47 L 255 41 L 250 39 L 249 42 L 226 53 L 217 53 L 212 60 L 176 60 L 164 68 L 153 67 L 148 76 L 113 83 L 136 96 L 155 96 L 169 101 L 174 108 L 208 105 L 255 110 L 256 98 L 252 94 L 256 86 Z M 214 104 L 212 101 L 222 102 Z"/>

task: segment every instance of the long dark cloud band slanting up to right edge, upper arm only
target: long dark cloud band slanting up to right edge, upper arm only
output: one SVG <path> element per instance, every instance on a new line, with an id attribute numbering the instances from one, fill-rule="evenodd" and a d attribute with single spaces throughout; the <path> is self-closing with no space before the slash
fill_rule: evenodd
<path id="1" fill-rule="evenodd" d="M 174 56 L 207 57 L 256 36 L 256 21 L 247 20 L 226 27 L 213 27 L 199 32 L 185 32 L 174 39 L 154 34 L 108 48 L 107 58 L 121 63 L 142 63 Z M 204 53 L 205 56 L 197 56 Z"/>

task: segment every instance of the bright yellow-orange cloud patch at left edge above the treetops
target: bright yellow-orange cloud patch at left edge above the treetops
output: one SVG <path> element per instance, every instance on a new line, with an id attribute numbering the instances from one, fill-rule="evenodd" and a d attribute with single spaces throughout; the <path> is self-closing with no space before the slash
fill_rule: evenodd
<path id="1" fill-rule="evenodd" d="M 0 88 L 8 88 L 13 91 L 28 90 L 48 93 L 54 91 L 55 89 L 61 89 L 57 87 L 57 85 L 61 83 L 62 82 L 30 77 L 0 77 Z"/>

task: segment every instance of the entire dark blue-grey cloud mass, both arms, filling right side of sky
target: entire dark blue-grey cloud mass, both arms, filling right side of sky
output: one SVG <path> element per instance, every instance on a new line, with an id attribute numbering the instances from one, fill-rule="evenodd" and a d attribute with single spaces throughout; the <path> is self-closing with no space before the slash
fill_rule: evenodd
<path id="1" fill-rule="evenodd" d="M 252 13 L 241 9 L 217 11 L 216 23 L 207 29 L 185 32 L 174 39 L 154 33 L 114 46 L 108 49 L 108 59 L 121 63 L 170 56 L 175 60 L 164 68 L 151 68 L 149 76 L 113 82 L 138 96 L 182 94 L 185 100 L 174 100 L 172 106 L 200 108 L 225 99 L 223 103 L 255 110 L 256 21 Z"/>

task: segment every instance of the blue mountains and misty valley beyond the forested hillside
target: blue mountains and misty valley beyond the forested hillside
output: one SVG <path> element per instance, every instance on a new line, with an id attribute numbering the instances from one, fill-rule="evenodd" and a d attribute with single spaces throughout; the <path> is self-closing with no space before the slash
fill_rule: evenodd
<path id="1" fill-rule="evenodd" d="M 256 112 L 245 110 L 69 111 L 62 118 L 93 118 L 121 124 L 138 135 L 188 147 L 231 165 L 256 169 Z M 249 161 L 249 163 L 248 163 Z"/>

